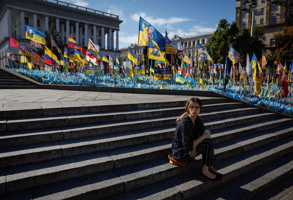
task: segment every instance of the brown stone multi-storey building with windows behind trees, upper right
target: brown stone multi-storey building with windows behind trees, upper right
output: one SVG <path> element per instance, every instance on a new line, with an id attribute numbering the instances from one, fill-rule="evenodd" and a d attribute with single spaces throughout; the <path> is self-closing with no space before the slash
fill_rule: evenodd
<path id="1" fill-rule="evenodd" d="M 246 0 L 236 0 L 236 23 L 239 29 L 259 25 L 265 28 L 265 45 L 268 49 L 275 46 L 274 34 L 282 31 L 293 19 L 292 0 L 256 0 L 255 11 L 251 11 Z M 252 21 L 252 14 L 253 21 Z"/>

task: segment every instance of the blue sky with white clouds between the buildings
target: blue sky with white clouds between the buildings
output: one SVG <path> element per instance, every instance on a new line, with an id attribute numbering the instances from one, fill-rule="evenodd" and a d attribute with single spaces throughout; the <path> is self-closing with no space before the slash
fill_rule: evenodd
<path id="1" fill-rule="evenodd" d="M 235 20 L 235 0 L 63 0 L 119 15 L 119 48 L 138 41 L 139 16 L 169 38 L 214 31 L 220 19 Z M 116 34 L 115 34 L 116 37 Z M 114 43 L 116 45 L 116 43 Z"/>

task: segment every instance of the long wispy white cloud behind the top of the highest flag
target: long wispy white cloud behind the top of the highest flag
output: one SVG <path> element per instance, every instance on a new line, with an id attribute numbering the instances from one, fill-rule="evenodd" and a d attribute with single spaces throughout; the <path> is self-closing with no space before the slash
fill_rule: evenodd
<path id="1" fill-rule="evenodd" d="M 189 18 L 180 18 L 180 17 L 170 17 L 170 18 L 153 18 L 152 16 L 147 16 L 146 13 L 140 12 L 140 13 L 134 13 L 130 16 L 130 18 L 136 22 L 139 22 L 139 17 L 142 17 L 143 19 L 147 20 L 150 24 L 153 26 L 162 26 L 162 25 L 170 25 L 170 24 L 178 24 L 181 22 L 186 21 L 192 21 L 192 19 Z"/>

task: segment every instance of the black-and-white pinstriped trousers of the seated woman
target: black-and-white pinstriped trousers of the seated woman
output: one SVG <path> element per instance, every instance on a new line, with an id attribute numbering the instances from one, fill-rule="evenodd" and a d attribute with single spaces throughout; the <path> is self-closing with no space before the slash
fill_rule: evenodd
<path id="1" fill-rule="evenodd" d="M 206 138 L 202 140 L 195 147 L 196 155 L 202 154 L 202 166 L 213 166 L 213 162 L 215 161 L 215 153 L 214 153 L 214 142 L 211 138 Z M 186 151 L 184 158 L 180 159 L 180 161 L 188 161 L 193 157 L 190 156 L 189 151 Z"/>

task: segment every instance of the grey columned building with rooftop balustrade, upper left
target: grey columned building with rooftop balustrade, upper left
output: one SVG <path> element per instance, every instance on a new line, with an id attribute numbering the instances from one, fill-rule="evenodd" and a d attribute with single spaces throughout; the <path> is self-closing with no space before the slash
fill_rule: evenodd
<path id="1" fill-rule="evenodd" d="M 53 18 L 54 17 L 54 18 Z M 24 45 L 25 26 L 45 32 L 56 19 L 60 38 L 68 44 L 68 35 L 86 47 L 88 38 L 100 46 L 100 54 L 119 55 L 119 16 L 57 0 L 1 0 L 0 1 L 0 64 L 5 63 L 9 37 Z M 114 41 L 116 34 L 116 41 Z M 107 44 L 106 44 L 107 38 Z M 116 43 L 116 48 L 114 48 Z M 117 50 L 116 50 L 117 49 Z M 11 48 L 14 54 L 18 49 Z"/>

